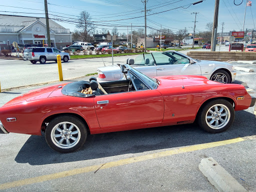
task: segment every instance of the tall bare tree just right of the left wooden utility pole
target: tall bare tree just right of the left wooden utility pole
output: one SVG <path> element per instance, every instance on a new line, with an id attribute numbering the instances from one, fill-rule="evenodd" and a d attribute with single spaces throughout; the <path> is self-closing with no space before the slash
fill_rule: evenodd
<path id="1" fill-rule="evenodd" d="M 76 27 L 79 28 L 80 36 L 82 37 L 82 40 L 90 41 L 92 32 L 95 29 L 95 26 L 93 22 L 90 21 L 91 17 L 90 14 L 86 11 L 81 11 L 80 16 L 78 18 L 79 23 L 76 24 Z"/>

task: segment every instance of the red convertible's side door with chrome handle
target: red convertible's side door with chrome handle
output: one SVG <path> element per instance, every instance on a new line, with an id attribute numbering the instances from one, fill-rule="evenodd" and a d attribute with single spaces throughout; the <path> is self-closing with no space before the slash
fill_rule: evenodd
<path id="1" fill-rule="evenodd" d="M 116 128 L 160 124 L 163 119 L 163 97 L 157 89 L 149 88 L 130 74 L 133 87 L 127 92 L 96 95 L 95 112 L 100 128 Z M 134 85 L 134 82 L 136 83 Z"/>

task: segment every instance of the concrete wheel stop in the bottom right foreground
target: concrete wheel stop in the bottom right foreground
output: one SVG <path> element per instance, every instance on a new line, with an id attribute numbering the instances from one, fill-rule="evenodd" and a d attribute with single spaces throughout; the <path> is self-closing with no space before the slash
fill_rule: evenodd
<path id="1" fill-rule="evenodd" d="M 203 158 L 198 165 L 199 170 L 207 177 L 212 185 L 218 191 L 223 192 L 246 192 L 243 188 L 222 166 L 220 166 L 212 157 Z"/>

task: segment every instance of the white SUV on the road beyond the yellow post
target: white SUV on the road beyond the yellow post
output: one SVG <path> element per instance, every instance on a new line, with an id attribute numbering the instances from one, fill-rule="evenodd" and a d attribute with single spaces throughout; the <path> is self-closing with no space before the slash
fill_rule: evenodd
<path id="1" fill-rule="evenodd" d="M 37 61 L 45 63 L 46 60 L 57 61 L 57 55 L 61 56 L 61 60 L 67 62 L 70 56 L 67 52 L 60 52 L 56 48 L 50 47 L 28 47 L 24 49 L 23 60 L 30 60 L 31 63 L 35 64 Z"/>

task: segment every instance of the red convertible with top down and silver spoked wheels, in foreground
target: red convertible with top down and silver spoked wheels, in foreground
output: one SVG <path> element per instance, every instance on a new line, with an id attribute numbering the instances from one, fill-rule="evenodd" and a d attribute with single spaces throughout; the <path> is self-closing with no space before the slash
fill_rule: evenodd
<path id="1" fill-rule="evenodd" d="M 192 123 L 208 132 L 231 126 L 235 110 L 253 106 L 240 84 L 204 76 L 148 77 L 119 65 L 124 79 L 76 81 L 22 94 L 0 107 L 0 132 L 41 135 L 59 152 L 72 152 L 88 133 Z M 129 78 L 127 78 L 129 76 Z"/>

